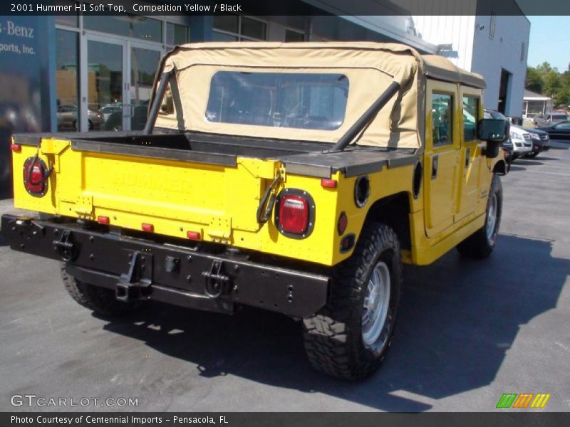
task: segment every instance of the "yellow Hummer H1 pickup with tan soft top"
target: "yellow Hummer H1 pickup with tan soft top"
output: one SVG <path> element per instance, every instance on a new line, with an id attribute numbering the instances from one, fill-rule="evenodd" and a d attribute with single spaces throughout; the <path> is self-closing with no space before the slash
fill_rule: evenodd
<path id="1" fill-rule="evenodd" d="M 145 300 L 301 319 L 311 364 L 358 379 L 393 336 L 402 263 L 491 253 L 499 146 L 480 75 L 384 43 L 198 43 L 160 63 L 144 132 L 16 135 L 15 251 L 81 305 Z"/>

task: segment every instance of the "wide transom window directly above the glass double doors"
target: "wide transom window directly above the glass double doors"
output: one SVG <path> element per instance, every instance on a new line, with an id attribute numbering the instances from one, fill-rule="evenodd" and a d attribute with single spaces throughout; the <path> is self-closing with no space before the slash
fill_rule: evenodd
<path id="1" fill-rule="evenodd" d="M 145 16 L 84 15 L 83 28 L 162 43 L 162 21 Z"/>

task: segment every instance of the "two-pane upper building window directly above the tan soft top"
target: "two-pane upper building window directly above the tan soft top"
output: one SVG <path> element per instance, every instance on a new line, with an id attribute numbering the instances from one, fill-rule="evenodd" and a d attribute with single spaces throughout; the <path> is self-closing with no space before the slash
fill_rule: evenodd
<path id="1" fill-rule="evenodd" d="M 267 23 L 247 16 L 214 16 L 212 40 L 261 41 L 267 39 Z"/>

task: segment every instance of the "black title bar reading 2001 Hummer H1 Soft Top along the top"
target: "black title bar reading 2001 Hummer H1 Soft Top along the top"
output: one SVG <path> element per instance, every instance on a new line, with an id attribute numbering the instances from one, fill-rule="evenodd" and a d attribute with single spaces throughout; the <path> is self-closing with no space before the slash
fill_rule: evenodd
<path id="1" fill-rule="evenodd" d="M 0 14 L 15 15 L 227 15 L 253 16 L 430 16 L 570 15 L 560 0 L 11 0 Z"/>

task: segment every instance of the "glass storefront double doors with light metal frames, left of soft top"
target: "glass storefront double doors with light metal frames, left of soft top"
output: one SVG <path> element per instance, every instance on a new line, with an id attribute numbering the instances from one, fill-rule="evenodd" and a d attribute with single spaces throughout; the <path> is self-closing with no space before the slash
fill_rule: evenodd
<path id="1" fill-rule="evenodd" d="M 112 36 L 86 44 L 81 131 L 142 130 L 162 48 Z"/>

